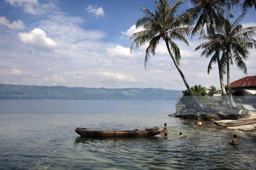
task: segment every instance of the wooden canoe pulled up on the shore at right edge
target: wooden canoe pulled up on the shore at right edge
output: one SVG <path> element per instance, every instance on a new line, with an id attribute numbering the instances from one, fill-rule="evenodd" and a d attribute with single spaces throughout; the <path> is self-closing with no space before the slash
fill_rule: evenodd
<path id="1" fill-rule="evenodd" d="M 256 118 L 244 119 L 244 120 L 220 120 L 220 121 L 214 121 L 214 124 L 220 125 L 223 127 L 250 125 L 250 124 L 256 124 Z"/>

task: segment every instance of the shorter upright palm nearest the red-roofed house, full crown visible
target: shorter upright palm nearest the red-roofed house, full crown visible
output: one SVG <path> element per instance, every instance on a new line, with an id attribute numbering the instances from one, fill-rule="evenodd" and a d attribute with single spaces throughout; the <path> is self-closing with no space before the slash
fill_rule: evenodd
<path id="1" fill-rule="evenodd" d="M 228 98 L 232 108 L 236 108 L 232 94 L 230 93 L 230 64 L 233 60 L 237 67 L 247 74 L 246 64 L 244 60 L 248 59 L 248 49 L 256 48 L 256 41 L 252 37 L 256 35 L 256 27 L 246 27 L 239 24 L 243 19 L 244 14 L 237 17 L 233 24 L 230 24 L 226 19 L 223 25 L 216 27 L 217 34 L 209 34 L 200 37 L 200 39 L 209 39 L 208 42 L 199 45 L 196 50 L 205 48 L 202 55 L 208 57 L 213 52 L 222 52 L 221 63 L 223 69 L 227 69 L 227 85 L 228 85 Z M 209 67 L 211 70 L 211 67 Z"/>

